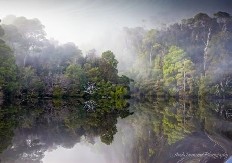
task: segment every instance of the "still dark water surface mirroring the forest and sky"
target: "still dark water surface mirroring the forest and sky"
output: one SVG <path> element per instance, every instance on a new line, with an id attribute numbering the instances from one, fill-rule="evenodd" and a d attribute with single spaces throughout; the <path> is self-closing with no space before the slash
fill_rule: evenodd
<path id="1" fill-rule="evenodd" d="M 230 163 L 232 100 L 2 104 L 0 153 L 1 163 Z"/>

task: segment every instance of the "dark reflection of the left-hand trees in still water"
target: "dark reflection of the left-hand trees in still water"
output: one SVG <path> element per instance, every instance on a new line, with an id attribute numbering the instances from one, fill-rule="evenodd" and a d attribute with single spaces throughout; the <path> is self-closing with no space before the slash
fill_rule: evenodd
<path id="1" fill-rule="evenodd" d="M 99 100 L 90 110 L 83 101 L 40 101 L 1 107 L 0 152 L 3 162 L 38 162 L 44 152 L 72 148 L 84 136 L 111 144 L 117 118 L 132 114 L 124 101 Z M 92 101 L 93 103 L 93 101 Z M 7 148 L 8 147 L 8 148 Z"/>

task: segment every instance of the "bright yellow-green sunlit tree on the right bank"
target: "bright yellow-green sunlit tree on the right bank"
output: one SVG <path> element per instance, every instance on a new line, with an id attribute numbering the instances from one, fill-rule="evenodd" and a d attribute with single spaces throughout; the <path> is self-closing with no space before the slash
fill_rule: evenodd
<path id="1" fill-rule="evenodd" d="M 164 86 L 170 95 L 177 95 L 181 91 L 185 94 L 187 84 L 191 90 L 193 80 L 193 63 L 187 54 L 176 46 L 171 46 L 164 57 Z"/>

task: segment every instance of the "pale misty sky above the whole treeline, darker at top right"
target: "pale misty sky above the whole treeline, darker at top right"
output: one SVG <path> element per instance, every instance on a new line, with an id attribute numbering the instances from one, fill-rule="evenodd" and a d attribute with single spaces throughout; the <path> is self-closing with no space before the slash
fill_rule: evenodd
<path id="1" fill-rule="evenodd" d="M 7 15 L 38 18 L 47 38 L 74 42 L 83 54 L 91 49 L 97 53 L 110 49 L 123 70 L 133 60 L 124 27 L 159 29 L 199 12 L 212 15 L 229 12 L 231 7 L 230 0 L 0 0 L 0 19 L 7 24 Z"/>

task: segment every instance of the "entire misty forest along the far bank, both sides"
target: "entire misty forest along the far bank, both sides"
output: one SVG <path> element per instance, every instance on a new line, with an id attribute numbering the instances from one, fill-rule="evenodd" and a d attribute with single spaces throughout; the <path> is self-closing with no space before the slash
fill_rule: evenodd
<path id="1" fill-rule="evenodd" d="M 122 72 L 112 51 L 83 55 L 74 43 L 47 39 L 44 28 L 38 19 L 2 21 L 0 97 L 232 96 L 229 13 L 199 13 L 160 29 L 125 27 L 125 46 L 134 59 Z"/>

